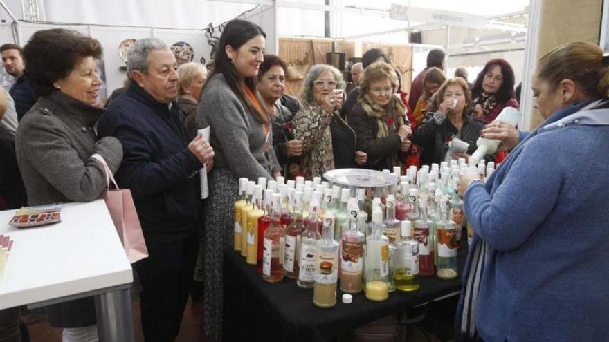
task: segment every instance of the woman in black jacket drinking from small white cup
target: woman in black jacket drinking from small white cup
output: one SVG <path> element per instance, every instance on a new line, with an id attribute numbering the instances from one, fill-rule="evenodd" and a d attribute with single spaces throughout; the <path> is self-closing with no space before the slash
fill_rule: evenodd
<path id="1" fill-rule="evenodd" d="M 469 144 L 466 153 L 455 153 L 453 158 L 469 158 L 476 149 L 476 140 L 482 122 L 467 117 L 471 92 L 460 77 L 446 80 L 437 91 L 438 110 L 428 115 L 426 121 L 412 135 L 412 142 L 430 152 L 430 162 L 442 162 L 448 151 L 448 143 L 455 137 Z M 487 161 L 493 157 L 487 155 Z"/>

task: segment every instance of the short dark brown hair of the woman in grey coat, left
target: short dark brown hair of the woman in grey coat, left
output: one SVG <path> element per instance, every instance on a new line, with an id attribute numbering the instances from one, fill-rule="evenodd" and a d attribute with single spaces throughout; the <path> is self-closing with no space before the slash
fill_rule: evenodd
<path id="1" fill-rule="evenodd" d="M 45 96 L 56 90 L 53 82 L 68 76 L 82 59 L 101 55 L 100 42 L 80 32 L 63 28 L 37 31 L 24 48 L 25 72 L 35 93 Z"/>

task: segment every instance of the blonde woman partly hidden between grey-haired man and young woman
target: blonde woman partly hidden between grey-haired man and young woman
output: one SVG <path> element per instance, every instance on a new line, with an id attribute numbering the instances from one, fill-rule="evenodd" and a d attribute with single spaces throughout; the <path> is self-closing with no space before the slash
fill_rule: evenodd
<path id="1" fill-rule="evenodd" d="M 197 113 L 199 112 L 201 90 L 207 80 L 207 68 L 203 64 L 190 61 L 181 64 L 177 73 L 180 119 L 186 129 L 188 139 L 192 140 L 197 135 Z"/>

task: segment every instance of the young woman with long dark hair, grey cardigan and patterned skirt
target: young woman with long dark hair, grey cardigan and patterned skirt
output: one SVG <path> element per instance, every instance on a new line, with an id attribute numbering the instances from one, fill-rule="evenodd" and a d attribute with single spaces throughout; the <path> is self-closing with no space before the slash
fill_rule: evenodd
<path id="1" fill-rule="evenodd" d="M 237 180 L 273 179 L 281 167 L 273 151 L 271 119 L 257 93 L 255 78 L 264 53 L 262 29 L 248 21 L 230 21 L 220 37 L 212 75 L 203 88 L 197 124 L 210 126 L 214 169 L 206 200 L 205 325 L 221 339 L 222 254 L 233 246 L 233 204 Z"/>

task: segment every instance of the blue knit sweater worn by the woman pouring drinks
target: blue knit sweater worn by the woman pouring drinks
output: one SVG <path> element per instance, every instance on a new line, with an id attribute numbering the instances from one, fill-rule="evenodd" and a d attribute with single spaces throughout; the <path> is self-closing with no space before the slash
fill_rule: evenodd
<path id="1" fill-rule="evenodd" d="M 609 340 L 608 155 L 609 126 L 538 129 L 486 187 L 466 191 L 467 217 L 491 247 L 476 314 L 484 341 Z"/>

